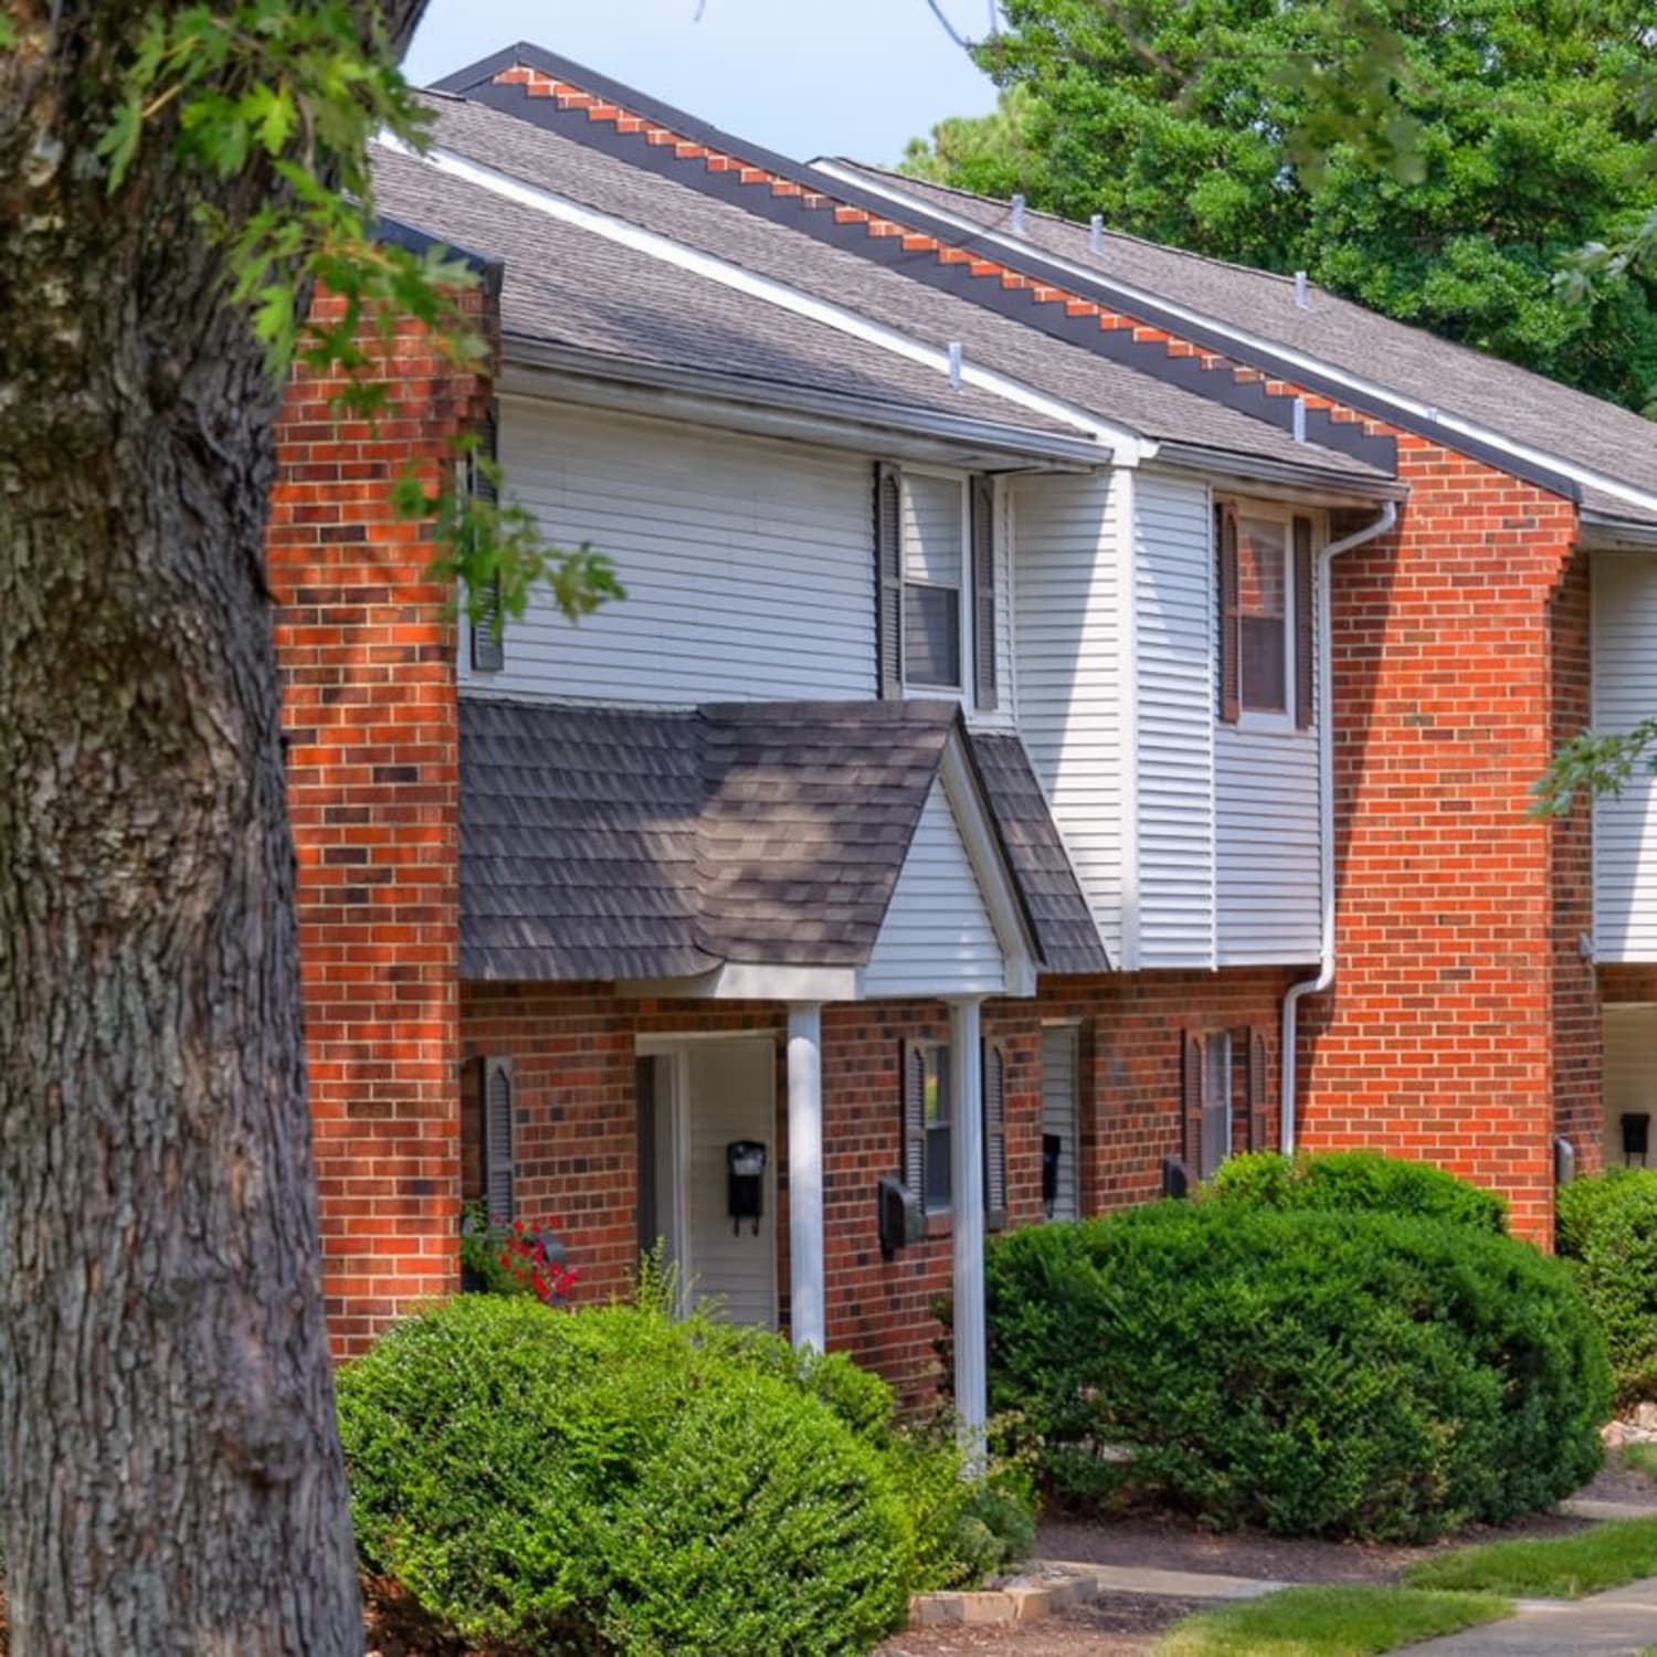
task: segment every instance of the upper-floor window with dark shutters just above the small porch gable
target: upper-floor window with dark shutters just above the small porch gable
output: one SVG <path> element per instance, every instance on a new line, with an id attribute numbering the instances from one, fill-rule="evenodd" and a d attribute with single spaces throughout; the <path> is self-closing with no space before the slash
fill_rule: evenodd
<path id="1" fill-rule="evenodd" d="M 880 694 L 996 706 L 994 487 L 882 466 L 875 477 Z"/>

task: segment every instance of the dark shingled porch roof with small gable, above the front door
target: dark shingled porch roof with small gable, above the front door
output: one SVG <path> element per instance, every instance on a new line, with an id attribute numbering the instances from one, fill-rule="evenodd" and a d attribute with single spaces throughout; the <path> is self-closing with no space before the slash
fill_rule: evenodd
<path id="1" fill-rule="evenodd" d="M 928 701 L 462 699 L 462 978 L 862 964 L 959 722 Z M 1047 964 L 1102 971 L 1017 737 L 973 741 Z"/>

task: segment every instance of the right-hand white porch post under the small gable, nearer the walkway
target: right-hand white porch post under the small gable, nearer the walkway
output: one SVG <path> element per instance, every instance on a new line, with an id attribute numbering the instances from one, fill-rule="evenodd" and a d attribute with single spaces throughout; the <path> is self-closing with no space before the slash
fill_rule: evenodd
<path id="1" fill-rule="evenodd" d="M 949 1002 L 949 1206 L 954 1233 L 954 1407 L 974 1465 L 983 1452 L 984 1089 L 978 1001 Z"/>

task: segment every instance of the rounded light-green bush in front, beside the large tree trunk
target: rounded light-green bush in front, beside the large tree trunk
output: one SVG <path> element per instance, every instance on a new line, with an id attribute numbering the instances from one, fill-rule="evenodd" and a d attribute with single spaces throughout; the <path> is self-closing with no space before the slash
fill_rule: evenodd
<path id="1" fill-rule="evenodd" d="M 891 1473 L 701 1332 L 490 1296 L 398 1324 L 340 1374 L 365 1563 L 471 1639 L 867 1650 L 910 1592 Z"/>

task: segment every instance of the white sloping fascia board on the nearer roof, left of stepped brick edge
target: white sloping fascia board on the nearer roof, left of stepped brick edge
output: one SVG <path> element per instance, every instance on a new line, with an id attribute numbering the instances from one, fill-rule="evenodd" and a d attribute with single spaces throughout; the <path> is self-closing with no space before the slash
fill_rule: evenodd
<path id="1" fill-rule="evenodd" d="M 613 242 L 618 247 L 626 247 L 636 254 L 645 254 L 650 258 L 659 260 L 674 270 L 684 270 L 693 275 L 704 277 L 709 282 L 717 282 L 721 287 L 731 288 L 734 293 L 746 293 L 749 298 L 775 305 L 779 310 L 785 310 L 794 316 L 822 323 L 824 326 L 833 328 L 835 331 L 848 335 L 853 340 L 862 340 L 865 345 L 878 346 L 880 350 L 890 351 L 893 356 L 901 356 L 911 363 L 921 363 L 923 366 L 935 368 L 940 376 L 944 378 L 944 383 L 948 383 L 951 365 L 946 346 L 928 345 L 923 340 L 915 340 L 896 328 L 888 328 L 885 323 L 872 321 L 868 316 L 860 316 L 857 312 L 847 310 L 842 305 L 833 305 L 828 300 L 802 293 L 800 290 L 790 288 L 787 283 L 777 282 L 772 277 L 762 277 L 754 270 L 744 270 L 741 265 L 732 265 L 727 260 L 716 258 L 713 254 L 704 254 L 699 249 L 686 247 L 683 242 L 674 242 L 671 237 L 661 235 L 656 230 L 646 230 L 643 225 L 628 224 L 625 219 L 598 212 L 593 207 L 570 200 L 568 197 L 558 196 L 539 184 L 525 184 L 522 179 L 514 179 L 495 167 L 484 166 L 479 161 L 471 161 L 454 151 L 431 149 L 426 154 L 421 154 L 389 134 L 381 134 L 378 143 L 396 151 L 398 154 L 408 156 L 411 161 L 418 161 L 432 171 L 444 174 L 446 177 L 459 179 L 476 189 L 487 191 L 490 196 L 499 196 L 502 200 L 515 202 L 517 205 L 539 212 L 542 217 L 552 219 L 557 224 L 567 224 L 578 230 L 587 230 L 588 234 L 603 237 L 606 242 Z M 1147 449 L 1155 449 L 1155 444 L 1148 446 L 1138 432 L 1133 432 L 1125 426 L 1117 426 L 1110 421 L 1100 419 L 1100 416 L 1094 414 L 1090 409 L 1084 409 L 1075 403 L 1067 403 L 1062 398 L 1049 396 L 1046 391 L 1037 391 L 1034 386 L 1029 386 L 1021 379 L 1014 379 L 1011 374 L 996 373 L 994 370 L 984 368 L 971 360 L 966 360 L 961 365 L 961 379 L 979 391 L 988 391 L 1007 403 L 1016 404 L 1017 408 L 1029 409 L 1042 419 L 1057 421 L 1062 426 L 1069 426 L 1072 431 L 1079 431 L 1097 439 L 1104 447 L 1115 452 L 1118 462 L 1140 456 Z"/>

